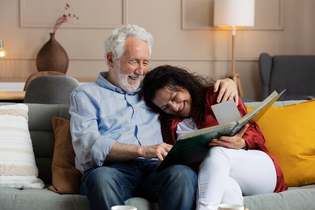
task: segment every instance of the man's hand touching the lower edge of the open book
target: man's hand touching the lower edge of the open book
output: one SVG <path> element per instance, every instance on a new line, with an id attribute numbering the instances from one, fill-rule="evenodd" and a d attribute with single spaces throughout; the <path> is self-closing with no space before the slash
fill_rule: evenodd
<path id="1" fill-rule="evenodd" d="M 172 145 L 168 145 L 166 143 L 152 145 L 152 146 L 144 146 L 141 147 L 142 155 L 141 157 L 145 159 L 157 158 L 159 159 L 159 163 L 161 163 L 165 156 L 170 152 L 172 149 Z"/>

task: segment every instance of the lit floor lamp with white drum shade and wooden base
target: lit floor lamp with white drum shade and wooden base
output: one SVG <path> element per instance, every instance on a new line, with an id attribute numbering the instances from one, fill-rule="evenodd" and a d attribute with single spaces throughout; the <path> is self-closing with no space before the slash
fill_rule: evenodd
<path id="1" fill-rule="evenodd" d="M 253 27 L 255 22 L 255 0 L 214 0 L 213 25 L 228 28 L 232 32 L 232 72 L 231 78 L 244 96 L 241 74 L 235 73 L 235 35 L 240 27 Z"/>

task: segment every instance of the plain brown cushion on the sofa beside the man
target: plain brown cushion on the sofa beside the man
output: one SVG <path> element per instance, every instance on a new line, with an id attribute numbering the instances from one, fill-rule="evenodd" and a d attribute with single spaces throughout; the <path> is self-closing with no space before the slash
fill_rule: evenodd
<path id="1" fill-rule="evenodd" d="M 55 146 L 52 157 L 52 186 L 59 194 L 79 194 L 82 174 L 74 166 L 75 153 L 70 133 L 70 120 L 52 117 Z"/>

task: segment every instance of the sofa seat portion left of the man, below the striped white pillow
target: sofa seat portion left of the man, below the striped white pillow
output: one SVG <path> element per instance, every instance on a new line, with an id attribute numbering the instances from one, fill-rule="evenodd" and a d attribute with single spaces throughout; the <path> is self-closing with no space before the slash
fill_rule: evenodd
<path id="1" fill-rule="evenodd" d="M 76 209 L 88 210 L 88 198 L 84 195 L 61 195 L 44 189 L 14 189 L 0 187 L 1 209 Z"/>

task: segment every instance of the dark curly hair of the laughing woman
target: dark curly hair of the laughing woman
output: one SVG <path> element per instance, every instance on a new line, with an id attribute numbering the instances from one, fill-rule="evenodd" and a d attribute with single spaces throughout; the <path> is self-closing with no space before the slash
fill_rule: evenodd
<path id="1" fill-rule="evenodd" d="M 157 90 L 168 87 L 171 91 L 178 91 L 179 88 L 186 89 L 192 98 L 191 117 L 195 121 L 203 122 L 203 113 L 205 110 L 204 96 L 209 86 L 213 86 L 211 78 L 198 75 L 189 71 L 189 69 L 161 65 L 149 71 L 143 79 L 143 96 L 147 105 L 160 114 L 159 120 L 164 123 L 171 123 L 171 119 L 176 116 L 163 112 L 159 107 L 152 103 Z"/>

